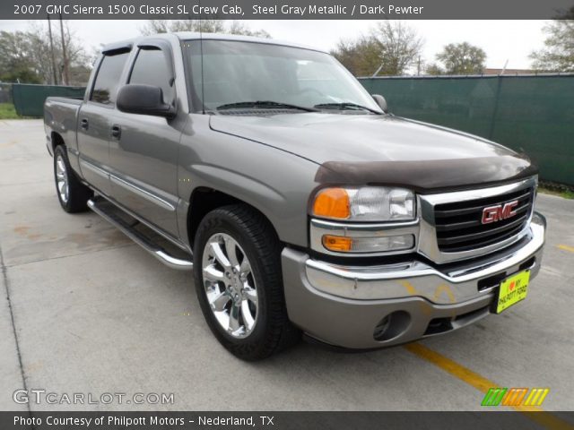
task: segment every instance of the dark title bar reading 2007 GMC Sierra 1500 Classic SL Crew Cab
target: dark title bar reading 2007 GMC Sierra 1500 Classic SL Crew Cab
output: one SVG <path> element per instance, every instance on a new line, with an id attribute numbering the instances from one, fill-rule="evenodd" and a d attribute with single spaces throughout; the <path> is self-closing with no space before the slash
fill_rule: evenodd
<path id="1" fill-rule="evenodd" d="M 573 0 L 2 0 L 0 19 L 538 20 L 569 10 Z"/>

